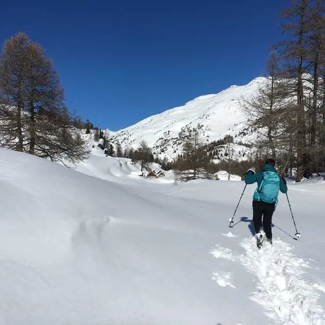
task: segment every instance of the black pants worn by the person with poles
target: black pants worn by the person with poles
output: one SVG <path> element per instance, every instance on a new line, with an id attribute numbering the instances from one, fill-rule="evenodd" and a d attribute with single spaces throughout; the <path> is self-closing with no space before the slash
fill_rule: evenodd
<path id="1" fill-rule="evenodd" d="M 272 215 L 275 210 L 275 204 L 266 203 L 262 201 L 253 201 L 253 223 L 255 233 L 259 233 L 262 227 L 263 217 L 263 229 L 267 239 L 272 240 Z"/>

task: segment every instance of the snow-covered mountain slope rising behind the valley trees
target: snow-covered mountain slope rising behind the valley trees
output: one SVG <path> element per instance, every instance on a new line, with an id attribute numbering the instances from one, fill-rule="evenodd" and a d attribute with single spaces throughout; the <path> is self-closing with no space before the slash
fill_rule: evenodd
<path id="1" fill-rule="evenodd" d="M 245 116 L 239 101 L 251 96 L 266 78 L 253 79 L 244 86 L 231 86 L 217 94 L 200 96 L 163 113 L 150 116 L 132 126 L 110 133 L 112 142 L 119 141 L 122 147 L 136 148 L 145 140 L 153 153 L 163 158 L 173 159 L 181 152 L 180 132 L 186 132 L 200 125 L 206 142 L 222 139 L 226 135 L 234 137 L 234 142 L 248 142 L 255 138 L 244 130 Z M 246 146 L 234 144 L 232 150 L 236 159 L 248 155 Z"/>

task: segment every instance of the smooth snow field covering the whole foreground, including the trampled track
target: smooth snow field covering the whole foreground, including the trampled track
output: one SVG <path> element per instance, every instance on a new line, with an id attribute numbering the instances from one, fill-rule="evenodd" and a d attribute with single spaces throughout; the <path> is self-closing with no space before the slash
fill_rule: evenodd
<path id="1" fill-rule="evenodd" d="M 236 88 L 235 88 L 236 89 Z M 252 241 L 247 186 L 147 180 L 131 161 L 75 169 L 0 150 L 0 324 L 325 323 L 322 182 L 289 184 L 273 246 Z"/>

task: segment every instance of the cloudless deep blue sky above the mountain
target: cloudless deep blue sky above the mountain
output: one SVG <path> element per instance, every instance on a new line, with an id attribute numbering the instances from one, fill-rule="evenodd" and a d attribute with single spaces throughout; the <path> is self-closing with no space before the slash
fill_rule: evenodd
<path id="1" fill-rule="evenodd" d="M 83 119 L 117 129 L 261 76 L 289 0 L 5 1 L 0 42 L 41 43 Z"/>

